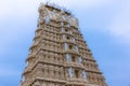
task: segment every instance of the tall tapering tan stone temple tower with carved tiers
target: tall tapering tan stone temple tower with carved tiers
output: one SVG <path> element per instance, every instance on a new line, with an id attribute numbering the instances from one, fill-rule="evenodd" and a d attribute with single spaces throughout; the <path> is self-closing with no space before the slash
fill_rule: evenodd
<path id="1" fill-rule="evenodd" d="M 54 4 L 41 4 L 21 86 L 107 86 L 80 33 L 78 19 Z"/>

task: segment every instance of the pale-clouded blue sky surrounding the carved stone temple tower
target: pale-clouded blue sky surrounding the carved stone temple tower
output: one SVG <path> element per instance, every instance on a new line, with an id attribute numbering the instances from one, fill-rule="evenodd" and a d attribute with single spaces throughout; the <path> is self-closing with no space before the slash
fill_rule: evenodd
<path id="1" fill-rule="evenodd" d="M 0 86 L 20 85 L 40 2 L 0 0 Z M 130 86 L 130 0 L 51 0 L 79 18 L 108 86 Z"/>

